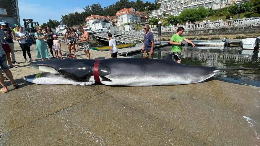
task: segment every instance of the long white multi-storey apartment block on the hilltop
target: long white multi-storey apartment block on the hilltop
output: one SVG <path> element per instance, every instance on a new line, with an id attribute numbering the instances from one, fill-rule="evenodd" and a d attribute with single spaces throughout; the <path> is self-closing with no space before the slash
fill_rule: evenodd
<path id="1" fill-rule="evenodd" d="M 163 0 L 159 9 L 152 11 L 151 17 L 162 18 L 165 15 L 177 16 L 185 9 L 204 8 L 220 9 L 232 4 L 229 0 Z"/>

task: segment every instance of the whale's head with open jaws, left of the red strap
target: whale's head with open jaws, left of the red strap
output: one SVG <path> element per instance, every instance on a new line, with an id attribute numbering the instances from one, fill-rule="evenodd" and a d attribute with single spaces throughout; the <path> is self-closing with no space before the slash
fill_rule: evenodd
<path id="1" fill-rule="evenodd" d="M 30 63 L 43 73 L 25 76 L 24 79 L 31 83 L 38 84 L 73 84 L 90 85 L 94 84 L 93 65 L 95 60 L 86 59 L 64 59 L 46 60 Z"/>

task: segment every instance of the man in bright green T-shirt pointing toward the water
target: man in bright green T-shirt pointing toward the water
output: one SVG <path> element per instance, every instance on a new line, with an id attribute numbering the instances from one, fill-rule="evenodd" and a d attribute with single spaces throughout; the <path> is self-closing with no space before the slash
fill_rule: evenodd
<path id="1" fill-rule="evenodd" d="M 175 58 L 175 60 L 177 60 L 178 63 L 181 63 L 181 50 L 182 50 L 182 46 L 183 46 L 183 43 L 182 43 L 183 40 L 185 42 L 190 43 L 192 45 L 192 47 L 196 47 L 193 42 L 191 42 L 190 40 L 188 40 L 182 36 L 183 32 L 184 32 L 184 28 L 179 27 L 177 29 L 177 33 L 174 34 L 170 39 L 170 44 L 172 44 L 171 51 L 173 52 L 174 58 Z"/>

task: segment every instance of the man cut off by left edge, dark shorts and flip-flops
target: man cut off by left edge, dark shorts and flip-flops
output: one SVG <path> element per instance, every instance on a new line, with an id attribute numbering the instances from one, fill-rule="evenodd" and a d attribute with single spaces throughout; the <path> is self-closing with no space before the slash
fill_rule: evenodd
<path id="1" fill-rule="evenodd" d="M 12 85 L 14 87 L 18 87 L 18 84 L 14 82 L 14 78 L 12 75 L 12 72 L 9 70 L 7 62 L 6 62 L 6 55 L 4 52 L 4 49 L 2 48 L 2 42 L 0 41 L 0 84 L 3 88 L 0 89 L 1 93 L 6 93 L 8 92 L 8 88 L 6 86 L 6 84 L 4 83 L 4 76 L 2 74 L 2 71 L 4 71 L 4 73 L 6 74 L 6 76 L 9 78 L 9 80 L 11 81 Z"/>

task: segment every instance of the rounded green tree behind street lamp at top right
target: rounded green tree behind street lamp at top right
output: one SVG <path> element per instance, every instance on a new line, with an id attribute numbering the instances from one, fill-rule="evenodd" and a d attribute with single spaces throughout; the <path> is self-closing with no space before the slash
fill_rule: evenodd
<path id="1" fill-rule="evenodd" d="M 253 10 L 254 10 L 254 6 L 253 6 L 253 3 L 250 1 L 240 4 L 239 13 L 251 12 Z M 228 12 L 231 14 L 237 14 L 238 13 L 238 4 L 234 4 L 230 7 L 228 7 Z"/>

